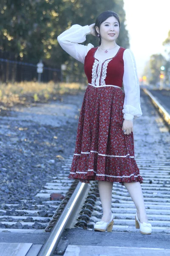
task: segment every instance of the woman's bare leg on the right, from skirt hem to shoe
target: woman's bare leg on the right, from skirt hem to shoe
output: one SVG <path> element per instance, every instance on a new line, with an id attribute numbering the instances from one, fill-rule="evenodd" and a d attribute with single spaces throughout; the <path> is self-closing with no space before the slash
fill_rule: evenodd
<path id="1" fill-rule="evenodd" d="M 124 182 L 137 210 L 140 222 L 148 223 L 141 184 L 138 182 Z"/>

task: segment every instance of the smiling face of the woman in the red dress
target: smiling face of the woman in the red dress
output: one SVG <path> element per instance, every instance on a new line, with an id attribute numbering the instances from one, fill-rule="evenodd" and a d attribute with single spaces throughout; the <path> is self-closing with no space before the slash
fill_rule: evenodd
<path id="1" fill-rule="evenodd" d="M 118 20 L 111 16 L 107 20 L 103 21 L 99 28 L 96 26 L 96 31 L 100 34 L 102 39 L 106 41 L 115 41 L 119 36 L 119 23 Z"/>

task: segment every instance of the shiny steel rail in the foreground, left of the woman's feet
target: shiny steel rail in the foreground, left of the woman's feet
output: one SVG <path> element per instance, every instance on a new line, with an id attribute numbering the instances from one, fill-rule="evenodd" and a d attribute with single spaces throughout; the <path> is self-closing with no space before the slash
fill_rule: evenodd
<path id="1" fill-rule="evenodd" d="M 62 214 L 60 215 L 57 223 L 55 224 L 53 230 L 50 233 L 47 241 L 42 246 L 38 256 L 52 256 L 54 250 L 62 236 L 65 228 L 70 227 L 72 221 L 75 219 L 76 212 L 79 211 L 81 205 L 84 203 L 83 199 L 86 198 L 86 195 L 90 189 L 91 184 L 81 183 L 77 184 L 76 189 L 74 190 L 71 198 L 65 206 Z"/>

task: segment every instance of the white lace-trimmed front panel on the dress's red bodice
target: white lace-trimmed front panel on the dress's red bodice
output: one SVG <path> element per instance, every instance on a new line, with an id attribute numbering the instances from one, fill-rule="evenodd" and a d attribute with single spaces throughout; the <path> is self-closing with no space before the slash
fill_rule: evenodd
<path id="1" fill-rule="evenodd" d="M 107 67 L 108 63 L 112 60 L 94 60 L 93 68 L 92 68 L 92 79 L 91 79 L 91 84 L 95 87 L 99 86 L 105 86 L 105 78 L 107 74 Z M 102 74 L 101 74 L 102 71 Z"/>

